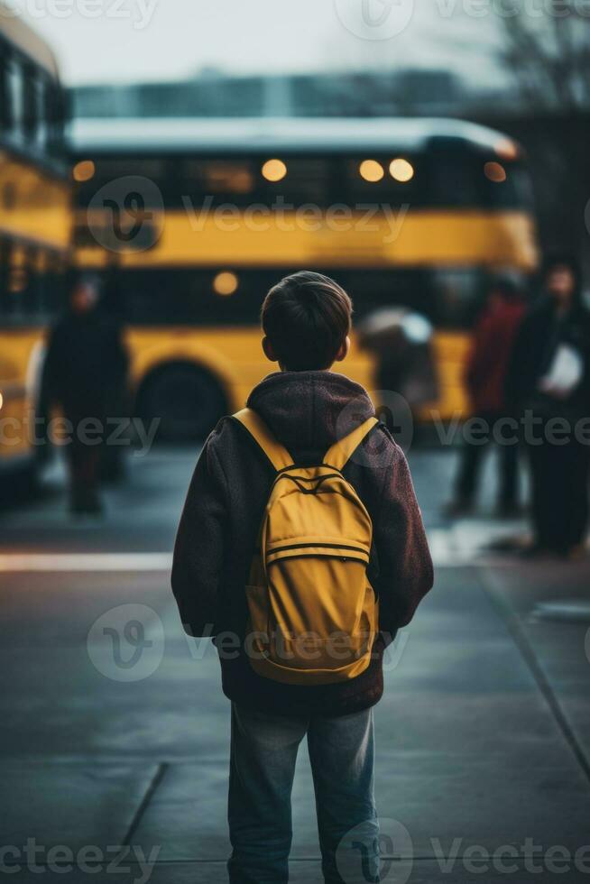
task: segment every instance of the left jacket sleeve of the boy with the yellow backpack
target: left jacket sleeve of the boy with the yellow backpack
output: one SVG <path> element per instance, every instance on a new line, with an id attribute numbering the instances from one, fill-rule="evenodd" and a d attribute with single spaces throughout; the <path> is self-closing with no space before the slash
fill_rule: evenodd
<path id="1" fill-rule="evenodd" d="M 172 591 L 180 620 L 194 636 L 215 635 L 226 547 L 226 476 L 207 439 L 189 485 L 174 545 Z"/>

